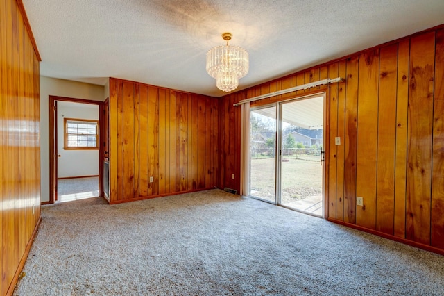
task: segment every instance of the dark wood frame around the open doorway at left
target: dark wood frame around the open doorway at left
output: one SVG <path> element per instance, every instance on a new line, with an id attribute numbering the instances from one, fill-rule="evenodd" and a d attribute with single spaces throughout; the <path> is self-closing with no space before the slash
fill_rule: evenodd
<path id="1" fill-rule="evenodd" d="M 49 202 L 42 204 L 54 204 L 57 200 L 57 178 L 56 166 L 58 165 L 57 155 L 54 151 L 57 147 L 57 135 L 55 129 L 57 123 L 54 120 L 54 105 L 56 101 L 69 101 L 72 103 L 92 104 L 99 106 L 99 193 L 103 197 L 103 101 L 93 101 L 88 99 L 76 99 L 70 97 L 49 96 Z"/>

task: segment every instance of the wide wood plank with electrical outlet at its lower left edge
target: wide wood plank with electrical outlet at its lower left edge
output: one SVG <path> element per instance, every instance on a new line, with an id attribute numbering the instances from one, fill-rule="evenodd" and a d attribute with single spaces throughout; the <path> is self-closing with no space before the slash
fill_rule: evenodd
<path id="1" fill-rule="evenodd" d="M 379 52 L 362 54 L 359 57 L 356 195 L 364 197 L 364 206 L 357 206 L 356 224 L 369 229 L 376 227 L 378 74 Z"/>

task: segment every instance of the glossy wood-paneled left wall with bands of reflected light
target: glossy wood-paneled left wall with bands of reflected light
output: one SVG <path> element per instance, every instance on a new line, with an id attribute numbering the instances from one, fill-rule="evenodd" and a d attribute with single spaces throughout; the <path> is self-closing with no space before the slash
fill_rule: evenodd
<path id="1" fill-rule="evenodd" d="M 0 295 L 10 295 L 40 221 L 39 58 L 21 1 L 0 1 Z"/>

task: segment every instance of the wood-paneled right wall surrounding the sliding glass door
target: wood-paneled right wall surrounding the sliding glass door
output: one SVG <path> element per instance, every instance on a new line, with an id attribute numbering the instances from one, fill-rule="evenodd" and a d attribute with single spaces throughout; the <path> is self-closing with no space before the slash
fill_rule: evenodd
<path id="1" fill-rule="evenodd" d="M 345 82 L 327 91 L 327 218 L 444 254 L 443 26 L 223 97 L 219 187 L 239 190 L 230 179 L 240 174 L 233 103 L 336 76 Z"/>

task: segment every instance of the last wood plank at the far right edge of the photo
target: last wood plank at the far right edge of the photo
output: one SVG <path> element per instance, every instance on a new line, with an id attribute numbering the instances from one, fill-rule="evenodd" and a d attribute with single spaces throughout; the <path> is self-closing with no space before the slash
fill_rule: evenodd
<path id="1" fill-rule="evenodd" d="M 444 29 L 436 32 L 431 245 L 444 249 Z"/>

